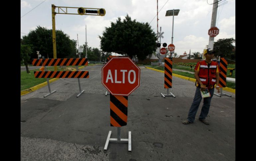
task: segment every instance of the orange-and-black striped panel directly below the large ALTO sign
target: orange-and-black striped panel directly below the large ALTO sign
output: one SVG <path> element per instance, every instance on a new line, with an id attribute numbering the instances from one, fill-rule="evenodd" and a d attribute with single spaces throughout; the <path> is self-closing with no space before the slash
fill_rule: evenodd
<path id="1" fill-rule="evenodd" d="M 110 126 L 127 125 L 128 96 L 112 95 L 110 93 Z"/>

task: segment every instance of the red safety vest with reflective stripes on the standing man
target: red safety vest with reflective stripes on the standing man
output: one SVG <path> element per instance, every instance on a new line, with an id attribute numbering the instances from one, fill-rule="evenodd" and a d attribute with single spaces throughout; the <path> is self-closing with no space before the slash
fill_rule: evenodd
<path id="1" fill-rule="evenodd" d="M 205 60 L 199 61 L 200 69 L 199 69 L 199 79 L 203 83 L 203 85 L 215 85 L 216 84 L 216 70 L 218 63 L 215 61 L 211 61 L 210 66 L 208 67 Z M 198 83 L 196 84 L 198 86 Z"/>

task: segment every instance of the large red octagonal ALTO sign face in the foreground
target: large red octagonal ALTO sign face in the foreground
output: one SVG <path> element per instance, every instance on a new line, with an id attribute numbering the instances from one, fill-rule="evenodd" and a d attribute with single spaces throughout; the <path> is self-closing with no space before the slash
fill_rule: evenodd
<path id="1" fill-rule="evenodd" d="M 140 86 L 140 68 L 129 57 L 112 57 L 101 70 L 102 84 L 112 95 L 128 96 Z"/>

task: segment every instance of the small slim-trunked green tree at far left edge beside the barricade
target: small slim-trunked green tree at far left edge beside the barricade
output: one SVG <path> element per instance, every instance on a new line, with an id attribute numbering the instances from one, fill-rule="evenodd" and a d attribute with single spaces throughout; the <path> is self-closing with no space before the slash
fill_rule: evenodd
<path id="1" fill-rule="evenodd" d="M 23 63 L 26 66 L 26 71 L 27 73 L 30 73 L 29 68 L 28 68 L 28 64 L 30 62 L 30 56 L 32 54 L 32 49 L 31 49 L 31 45 L 20 45 L 20 50 L 21 50 L 21 60 L 23 60 Z"/>

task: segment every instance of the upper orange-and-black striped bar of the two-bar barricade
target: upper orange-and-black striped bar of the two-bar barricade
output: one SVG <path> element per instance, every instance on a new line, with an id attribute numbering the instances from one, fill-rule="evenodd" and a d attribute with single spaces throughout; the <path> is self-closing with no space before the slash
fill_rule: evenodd
<path id="1" fill-rule="evenodd" d="M 78 66 L 88 65 L 87 58 L 33 59 L 33 66 Z"/>

